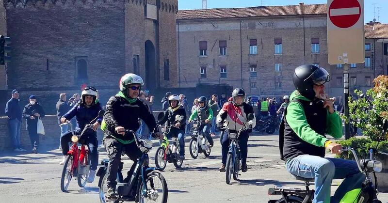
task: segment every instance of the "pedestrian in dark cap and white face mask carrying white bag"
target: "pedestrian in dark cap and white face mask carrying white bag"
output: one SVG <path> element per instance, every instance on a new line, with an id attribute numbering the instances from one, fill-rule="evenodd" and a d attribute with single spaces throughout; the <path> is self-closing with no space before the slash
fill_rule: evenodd
<path id="1" fill-rule="evenodd" d="M 36 96 L 30 96 L 30 102 L 24 106 L 23 118 L 26 119 L 27 130 L 31 140 L 32 153 L 37 154 L 39 146 L 38 121 L 45 117 L 42 105 L 36 102 Z"/>

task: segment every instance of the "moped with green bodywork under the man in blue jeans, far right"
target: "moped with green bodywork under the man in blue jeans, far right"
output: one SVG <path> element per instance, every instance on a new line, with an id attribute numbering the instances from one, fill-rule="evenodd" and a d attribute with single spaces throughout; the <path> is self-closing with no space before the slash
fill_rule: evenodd
<path id="1" fill-rule="evenodd" d="M 388 155 L 385 152 L 379 152 L 376 149 L 370 148 L 369 159 L 359 159 L 356 151 L 351 147 L 343 147 L 342 152 L 352 152 L 355 157 L 358 170 L 365 175 L 365 181 L 360 189 L 354 190 L 355 192 L 346 193 L 340 203 L 381 203 L 377 199 L 377 189 L 372 183 L 370 173 L 373 173 L 374 180 L 377 184 L 375 172 L 381 172 L 383 165 L 380 161 L 374 160 L 374 152 Z M 293 188 L 293 187 L 271 187 L 268 189 L 269 195 L 281 195 L 282 198 L 279 200 L 269 200 L 268 203 L 311 203 L 314 199 L 314 190 L 309 189 L 310 182 L 314 181 L 314 178 L 303 178 L 291 174 L 291 178 L 303 181 L 306 189 Z"/>

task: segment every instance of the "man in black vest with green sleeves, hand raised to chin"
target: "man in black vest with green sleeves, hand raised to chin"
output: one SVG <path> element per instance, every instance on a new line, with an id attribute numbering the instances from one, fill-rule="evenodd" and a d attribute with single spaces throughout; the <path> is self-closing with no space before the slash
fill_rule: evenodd
<path id="1" fill-rule="evenodd" d="M 365 180 L 356 162 L 339 158 L 325 158 L 325 149 L 339 154 L 342 146 L 329 141 L 325 134 L 342 137 L 342 122 L 335 112 L 333 99 L 325 94 L 324 83 L 330 76 L 321 67 L 302 65 L 295 69 L 296 88 L 279 129 L 281 159 L 287 171 L 304 178 L 315 178 L 314 203 L 340 202 L 347 191 L 360 188 Z M 345 179 L 333 197 L 333 179 Z"/>

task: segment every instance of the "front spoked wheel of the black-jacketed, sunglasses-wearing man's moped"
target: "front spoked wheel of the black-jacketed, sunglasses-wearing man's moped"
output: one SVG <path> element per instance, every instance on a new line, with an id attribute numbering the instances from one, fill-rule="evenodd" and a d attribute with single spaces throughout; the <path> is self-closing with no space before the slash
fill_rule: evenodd
<path id="1" fill-rule="evenodd" d="M 143 185 L 143 182 L 140 184 L 139 203 L 167 203 L 168 188 L 162 174 L 158 172 L 148 173 L 146 186 Z"/>

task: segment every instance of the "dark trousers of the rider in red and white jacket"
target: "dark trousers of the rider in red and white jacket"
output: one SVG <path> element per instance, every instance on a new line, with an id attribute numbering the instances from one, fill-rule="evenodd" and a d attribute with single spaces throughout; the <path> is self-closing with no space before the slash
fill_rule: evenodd
<path id="1" fill-rule="evenodd" d="M 248 156 L 248 138 L 249 134 L 247 132 L 242 132 L 238 140 L 240 141 L 240 152 L 241 152 L 241 162 L 242 165 L 246 164 L 246 156 Z M 227 132 L 224 132 L 224 136 L 221 140 L 221 154 L 222 154 L 222 163 L 226 164 L 227 153 L 229 152 L 229 144 L 231 140 L 229 139 Z"/>

